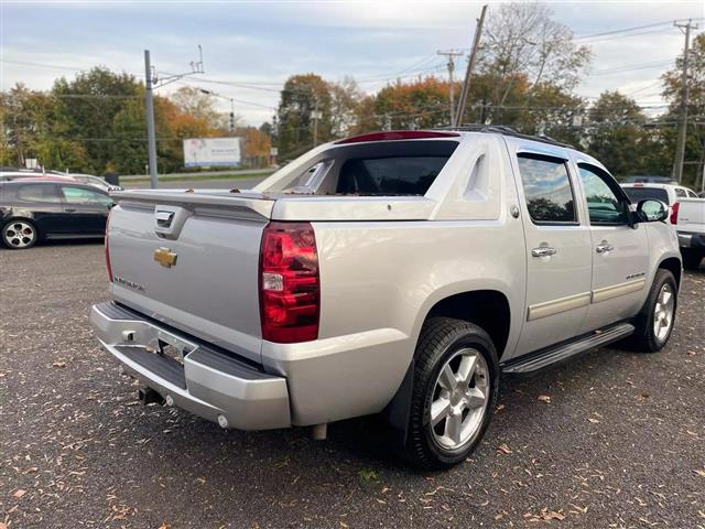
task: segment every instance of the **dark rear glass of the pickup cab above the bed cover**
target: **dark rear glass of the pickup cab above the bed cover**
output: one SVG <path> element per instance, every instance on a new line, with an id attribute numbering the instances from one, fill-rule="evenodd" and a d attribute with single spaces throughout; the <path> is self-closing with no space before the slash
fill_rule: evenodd
<path id="1" fill-rule="evenodd" d="M 338 193 L 424 195 L 448 156 L 394 156 L 348 160 L 340 169 Z"/>

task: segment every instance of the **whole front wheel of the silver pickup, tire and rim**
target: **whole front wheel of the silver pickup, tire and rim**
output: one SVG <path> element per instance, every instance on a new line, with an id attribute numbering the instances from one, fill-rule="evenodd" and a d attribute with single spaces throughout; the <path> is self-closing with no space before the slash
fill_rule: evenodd
<path id="1" fill-rule="evenodd" d="M 673 332 L 677 309 L 677 284 L 673 273 L 660 268 L 651 291 L 634 321 L 630 344 L 636 350 L 657 353 L 665 346 Z"/>

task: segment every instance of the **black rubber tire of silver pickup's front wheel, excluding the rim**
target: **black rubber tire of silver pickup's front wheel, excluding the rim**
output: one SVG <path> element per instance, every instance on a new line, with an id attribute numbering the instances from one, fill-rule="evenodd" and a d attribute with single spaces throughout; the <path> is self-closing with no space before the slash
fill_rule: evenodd
<path id="1" fill-rule="evenodd" d="M 663 285 L 668 284 L 673 293 L 673 316 L 671 321 L 671 326 L 668 331 L 668 334 L 663 338 L 659 338 L 654 333 L 654 311 L 657 307 L 657 302 L 659 299 L 659 294 L 663 289 Z M 673 333 L 673 326 L 675 325 L 675 315 L 677 311 L 677 284 L 675 282 L 675 278 L 673 273 L 669 270 L 660 268 L 657 270 L 657 273 L 653 278 L 653 283 L 651 285 L 651 290 L 649 291 L 649 295 L 647 301 L 641 309 L 641 312 L 634 319 L 634 334 L 629 337 L 629 345 L 632 349 L 641 352 L 641 353 L 658 353 L 661 350 L 665 344 L 669 342 L 671 334 Z"/>

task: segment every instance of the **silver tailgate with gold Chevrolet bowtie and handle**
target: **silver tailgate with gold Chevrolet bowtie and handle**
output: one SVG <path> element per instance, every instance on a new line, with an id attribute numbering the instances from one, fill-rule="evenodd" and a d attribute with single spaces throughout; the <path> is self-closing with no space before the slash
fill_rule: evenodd
<path id="1" fill-rule="evenodd" d="M 259 250 L 273 201 L 184 192 L 115 197 L 115 301 L 259 363 Z"/>

